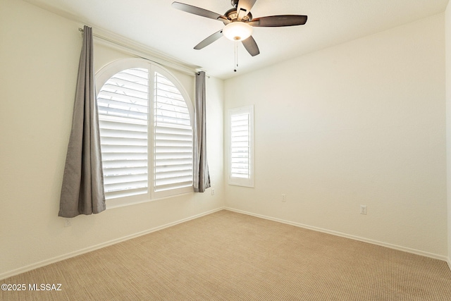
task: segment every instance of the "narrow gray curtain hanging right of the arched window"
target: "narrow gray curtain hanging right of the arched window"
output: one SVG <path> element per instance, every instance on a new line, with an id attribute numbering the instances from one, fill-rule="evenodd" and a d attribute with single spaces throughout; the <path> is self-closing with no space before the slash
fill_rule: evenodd
<path id="1" fill-rule="evenodd" d="M 194 125 L 194 182 L 195 192 L 210 187 L 209 164 L 206 161 L 205 130 L 205 72 L 196 73 L 196 116 Z"/>

